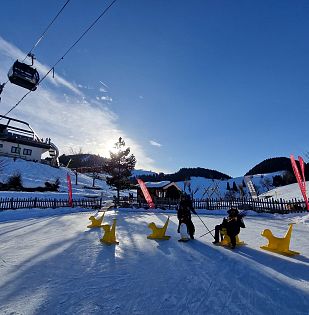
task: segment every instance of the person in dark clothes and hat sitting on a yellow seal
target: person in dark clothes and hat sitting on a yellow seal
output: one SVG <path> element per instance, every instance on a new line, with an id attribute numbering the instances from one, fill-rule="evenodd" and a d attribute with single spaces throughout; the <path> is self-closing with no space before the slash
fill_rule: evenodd
<path id="1" fill-rule="evenodd" d="M 219 235 L 221 236 L 222 241 L 223 236 L 221 235 L 220 231 L 225 228 L 227 235 L 231 239 L 231 247 L 235 248 L 236 235 L 239 234 L 240 228 L 245 228 L 246 226 L 243 220 L 243 215 L 241 215 L 236 208 L 231 208 L 227 211 L 227 213 L 229 214 L 227 219 L 224 218 L 222 223 L 216 225 L 215 227 L 215 241 L 213 243 L 219 243 Z"/>

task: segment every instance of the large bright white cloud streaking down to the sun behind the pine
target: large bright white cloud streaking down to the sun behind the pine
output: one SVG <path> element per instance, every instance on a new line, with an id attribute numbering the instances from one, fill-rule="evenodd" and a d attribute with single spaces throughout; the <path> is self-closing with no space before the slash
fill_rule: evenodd
<path id="1" fill-rule="evenodd" d="M 25 53 L 0 37 L 1 83 L 6 80 L 12 62 L 17 58 L 22 60 L 24 56 Z M 40 71 L 48 68 L 42 64 L 37 67 Z M 60 154 L 68 154 L 71 149 L 82 148 L 84 153 L 108 157 L 114 143 L 122 137 L 137 159 L 137 168 L 160 171 L 143 147 L 122 130 L 116 113 L 107 107 L 103 108 L 99 101 L 89 99 L 76 85 L 60 76 L 57 76 L 57 84 L 52 79 L 48 81 L 52 84 L 40 85 L 35 92 L 28 94 L 9 116 L 28 122 L 40 138 L 51 138 Z M 101 84 L 104 85 L 103 82 Z M 8 83 L 1 95 L 1 114 L 4 115 L 10 110 L 26 93 L 27 90 Z M 112 101 L 111 98 L 106 100 Z"/>

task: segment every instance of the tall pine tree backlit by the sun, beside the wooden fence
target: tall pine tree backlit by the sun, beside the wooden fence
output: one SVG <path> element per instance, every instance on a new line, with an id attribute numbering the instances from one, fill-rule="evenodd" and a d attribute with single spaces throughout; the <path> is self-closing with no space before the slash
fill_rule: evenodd
<path id="1" fill-rule="evenodd" d="M 131 187 L 130 176 L 136 164 L 135 156 L 129 155 L 130 148 L 125 148 L 125 145 L 120 137 L 115 143 L 116 152 L 109 152 L 110 158 L 104 165 L 104 171 L 109 175 L 106 183 L 117 191 L 117 200 L 119 200 L 121 190 Z"/>

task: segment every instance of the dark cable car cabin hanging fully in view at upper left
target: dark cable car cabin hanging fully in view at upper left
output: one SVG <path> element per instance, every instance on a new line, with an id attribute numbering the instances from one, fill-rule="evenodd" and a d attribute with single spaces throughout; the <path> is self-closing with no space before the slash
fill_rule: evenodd
<path id="1" fill-rule="evenodd" d="M 11 83 L 19 85 L 25 89 L 35 91 L 40 81 L 40 75 L 36 69 L 16 60 L 8 72 Z"/>

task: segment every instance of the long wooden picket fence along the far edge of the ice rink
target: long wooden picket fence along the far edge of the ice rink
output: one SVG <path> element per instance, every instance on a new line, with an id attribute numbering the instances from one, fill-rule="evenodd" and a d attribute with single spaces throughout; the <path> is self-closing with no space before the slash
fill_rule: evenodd
<path id="1" fill-rule="evenodd" d="M 177 209 L 179 200 L 160 199 L 155 200 L 156 208 Z M 119 207 L 137 207 L 147 208 L 148 205 L 144 199 L 121 198 Z M 253 210 L 256 212 L 269 213 L 292 213 L 306 211 L 304 201 L 283 199 L 194 199 L 195 209 L 218 210 L 237 207 L 239 210 Z M 97 199 L 77 199 L 73 200 L 73 207 L 81 208 L 101 208 L 103 206 L 102 198 Z M 39 198 L 0 198 L 0 211 L 23 209 L 23 208 L 60 208 L 69 207 L 67 199 L 39 199 Z"/>

